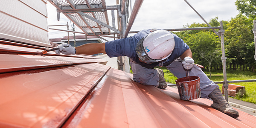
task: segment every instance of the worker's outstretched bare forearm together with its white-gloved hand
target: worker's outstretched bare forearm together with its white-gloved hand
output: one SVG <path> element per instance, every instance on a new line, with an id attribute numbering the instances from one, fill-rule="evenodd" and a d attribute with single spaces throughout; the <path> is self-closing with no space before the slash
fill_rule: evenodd
<path id="1" fill-rule="evenodd" d="M 57 46 L 58 50 L 55 50 L 56 54 L 70 55 L 70 54 L 87 54 L 93 55 L 98 53 L 106 53 L 105 43 L 88 43 L 79 47 L 72 47 L 70 44 L 62 43 Z"/>

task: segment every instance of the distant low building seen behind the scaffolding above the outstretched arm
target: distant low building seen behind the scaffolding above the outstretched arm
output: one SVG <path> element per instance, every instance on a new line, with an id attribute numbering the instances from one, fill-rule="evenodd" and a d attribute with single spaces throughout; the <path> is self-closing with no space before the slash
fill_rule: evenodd
<path id="1" fill-rule="evenodd" d="M 74 36 L 70 36 L 70 45 L 74 45 Z M 50 42 L 61 44 L 61 43 L 68 43 L 67 36 L 64 38 L 51 38 L 49 39 Z M 76 35 L 76 47 L 87 44 L 87 43 L 102 43 L 101 39 L 95 35 L 85 36 L 85 35 Z M 101 54 L 94 54 L 94 55 L 101 55 Z"/>

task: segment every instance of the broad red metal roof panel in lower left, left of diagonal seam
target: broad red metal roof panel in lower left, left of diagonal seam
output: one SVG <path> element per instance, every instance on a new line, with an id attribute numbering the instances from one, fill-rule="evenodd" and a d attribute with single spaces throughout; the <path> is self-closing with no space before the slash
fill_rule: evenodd
<path id="1" fill-rule="evenodd" d="M 61 125 L 109 68 L 82 64 L 38 73 L 6 73 L 0 79 L 0 127 Z"/>

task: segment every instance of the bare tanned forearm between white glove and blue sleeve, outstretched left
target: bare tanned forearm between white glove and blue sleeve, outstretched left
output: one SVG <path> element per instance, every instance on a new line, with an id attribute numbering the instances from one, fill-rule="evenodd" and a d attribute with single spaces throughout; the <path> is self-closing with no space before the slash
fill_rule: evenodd
<path id="1" fill-rule="evenodd" d="M 106 53 L 105 43 L 88 43 L 76 47 L 76 54 L 93 55 L 98 53 Z"/>

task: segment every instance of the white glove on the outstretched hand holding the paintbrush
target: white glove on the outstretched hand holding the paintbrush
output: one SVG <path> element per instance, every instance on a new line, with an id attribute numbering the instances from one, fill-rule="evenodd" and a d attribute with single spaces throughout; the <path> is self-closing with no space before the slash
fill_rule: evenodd
<path id="1" fill-rule="evenodd" d="M 69 46 L 69 47 L 65 47 L 65 46 Z M 58 50 L 55 50 L 56 54 L 60 54 L 60 52 L 65 55 L 76 54 L 75 47 L 72 47 L 70 44 L 67 44 L 67 43 L 62 43 L 58 45 L 56 48 L 60 48 Z"/>

